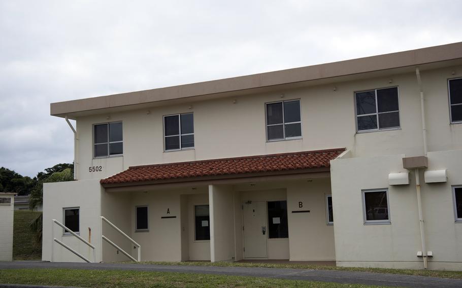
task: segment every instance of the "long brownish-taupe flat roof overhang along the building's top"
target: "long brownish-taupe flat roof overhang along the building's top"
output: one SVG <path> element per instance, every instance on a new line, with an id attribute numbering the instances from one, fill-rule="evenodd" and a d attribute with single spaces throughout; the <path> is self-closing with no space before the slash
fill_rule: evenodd
<path id="1" fill-rule="evenodd" d="M 462 65 L 462 42 L 346 61 L 51 103 L 53 116 L 77 117 L 212 98 L 279 91 Z"/>

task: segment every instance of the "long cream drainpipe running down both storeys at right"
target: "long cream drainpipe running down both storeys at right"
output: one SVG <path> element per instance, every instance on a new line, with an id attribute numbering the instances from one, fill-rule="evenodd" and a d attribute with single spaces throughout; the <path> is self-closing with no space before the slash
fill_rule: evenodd
<path id="1" fill-rule="evenodd" d="M 422 81 L 420 79 L 420 70 L 419 67 L 415 68 L 415 75 L 417 76 L 417 83 L 419 85 L 420 91 L 420 114 L 422 118 L 422 136 L 423 136 L 423 154 L 427 155 L 427 146 L 426 146 L 426 126 L 425 126 L 425 108 L 423 103 L 423 89 L 422 89 Z M 414 169 L 415 174 L 415 190 L 417 193 L 417 209 L 419 211 L 419 228 L 420 228 L 420 242 L 422 245 L 422 258 L 423 258 L 423 268 L 427 269 L 427 251 L 425 245 L 425 229 L 423 226 L 423 212 L 422 212 L 422 199 L 420 196 L 420 175 L 419 175 L 419 168 Z"/>

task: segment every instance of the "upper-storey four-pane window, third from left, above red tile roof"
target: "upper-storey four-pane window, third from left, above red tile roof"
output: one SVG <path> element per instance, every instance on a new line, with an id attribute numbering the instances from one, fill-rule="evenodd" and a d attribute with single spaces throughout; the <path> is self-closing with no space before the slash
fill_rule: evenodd
<path id="1" fill-rule="evenodd" d="M 300 100 L 289 100 L 266 104 L 267 140 L 302 138 Z"/>

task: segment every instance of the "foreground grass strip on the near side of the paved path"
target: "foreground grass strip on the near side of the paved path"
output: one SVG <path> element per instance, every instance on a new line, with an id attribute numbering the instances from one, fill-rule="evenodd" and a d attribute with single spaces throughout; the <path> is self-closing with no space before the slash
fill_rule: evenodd
<path id="1" fill-rule="evenodd" d="M 78 287 L 320 287 L 366 288 L 379 287 L 360 284 L 338 284 L 302 280 L 282 280 L 245 276 L 206 275 L 173 272 L 140 272 L 79 269 L 5 269 L 0 270 L 4 284 L 36 284 Z"/>

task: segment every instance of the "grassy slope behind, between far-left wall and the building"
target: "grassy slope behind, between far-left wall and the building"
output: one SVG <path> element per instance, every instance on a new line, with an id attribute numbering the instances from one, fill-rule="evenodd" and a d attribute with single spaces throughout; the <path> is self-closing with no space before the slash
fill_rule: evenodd
<path id="1" fill-rule="evenodd" d="M 42 245 L 37 245 L 29 224 L 42 212 L 15 210 L 13 224 L 13 260 L 42 259 Z"/>

